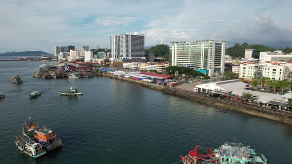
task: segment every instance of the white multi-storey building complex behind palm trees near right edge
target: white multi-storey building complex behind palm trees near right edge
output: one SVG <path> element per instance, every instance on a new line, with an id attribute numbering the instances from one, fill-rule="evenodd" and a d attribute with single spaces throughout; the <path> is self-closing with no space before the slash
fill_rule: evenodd
<path id="1" fill-rule="evenodd" d="M 289 78 L 289 68 L 291 64 L 281 65 L 280 63 L 255 64 L 248 62 L 240 65 L 239 78 L 250 81 L 252 79 L 261 79 L 266 77 L 271 80 L 283 81 Z"/>

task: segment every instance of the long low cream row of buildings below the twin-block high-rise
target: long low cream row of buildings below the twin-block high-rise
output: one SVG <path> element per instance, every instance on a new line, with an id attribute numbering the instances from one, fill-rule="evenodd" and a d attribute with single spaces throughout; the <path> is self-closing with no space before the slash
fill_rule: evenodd
<path id="1" fill-rule="evenodd" d="M 156 70 L 157 72 L 166 72 L 166 67 L 168 67 L 168 63 L 138 63 L 138 62 L 130 62 L 123 63 L 124 68 L 130 69 L 139 69 L 139 70 Z"/>

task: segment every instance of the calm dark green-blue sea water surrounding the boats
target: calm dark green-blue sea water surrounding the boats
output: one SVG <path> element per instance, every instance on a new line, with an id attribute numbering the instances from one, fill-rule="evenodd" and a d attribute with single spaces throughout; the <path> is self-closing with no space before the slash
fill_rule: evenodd
<path id="1" fill-rule="evenodd" d="M 0 62 L 0 164 L 173 164 L 195 145 L 237 141 L 263 153 L 269 164 L 292 164 L 292 126 L 222 111 L 140 85 L 104 77 L 32 78 L 43 62 Z M 19 74 L 23 83 L 11 83 Z M 76 86 L 83 96 L 60 96 Z M 42 95 L 29 99 L 33 90 Z M 31 117 L 52 129 L 62 149 L 40 159 L 14 141 Z"/>

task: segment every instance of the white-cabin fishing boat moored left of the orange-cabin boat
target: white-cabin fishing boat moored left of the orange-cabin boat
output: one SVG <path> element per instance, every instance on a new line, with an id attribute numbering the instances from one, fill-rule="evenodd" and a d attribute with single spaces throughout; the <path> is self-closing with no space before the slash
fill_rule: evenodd
<path id="1" fill-rule="evenodd" d="M 36 143 L 30 137 L 16 136 L 15 144 L 20 151 L 33 158 L 38 158 L 47 153 L 41 144 Z"/>

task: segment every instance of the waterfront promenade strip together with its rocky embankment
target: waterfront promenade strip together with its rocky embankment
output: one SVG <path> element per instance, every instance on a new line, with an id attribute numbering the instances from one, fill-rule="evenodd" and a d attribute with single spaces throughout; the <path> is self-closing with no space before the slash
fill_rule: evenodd
<path id="1" fill-rule="evenodd" d="M 276 120 L 285 123 L 292 123 L 292 114 L 284 113 L 279 110 L 273 110 L 270 108 L 260 107 L 249 103 L 236 102 L 232 100 L 228 100 L 222 97 L 212 97 L 209 94 L 198 93 L 188 90 L 182 90 L 175 87 L 166 87 L 163 85 L 152 84 L 148 82 L 136 81 L 133 79 L 113 76 L 110 74 L 102 74 L 102 76 L 106 76 L 109 78 L 119 79 L 128 82 L 134 82 L 142 84 L 143 86 L 149 87 L 154 90 L 163 91 L 168 94 L 193 99 L 195 102 L 202 103 L 205 105 L 215 106 L 224 110 L 233 110 L 238 112 L 243 112 L 246 114 L 251 114 L 254 116 L 264 117 L 271 120 Z"/>

